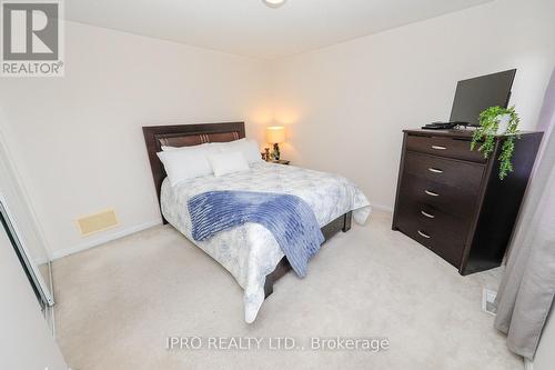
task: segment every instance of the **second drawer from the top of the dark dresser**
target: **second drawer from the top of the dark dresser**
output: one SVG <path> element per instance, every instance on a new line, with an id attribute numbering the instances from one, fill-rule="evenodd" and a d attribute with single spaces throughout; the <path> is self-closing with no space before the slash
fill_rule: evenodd
<path id="1" fill-rule="evenodd" d="M 442 183 L 457 191 L 476 193 L 480 190 L 484 171 L 485 166 L 480 163 L 415 152 L 405 154 L 404 173 Z"/>

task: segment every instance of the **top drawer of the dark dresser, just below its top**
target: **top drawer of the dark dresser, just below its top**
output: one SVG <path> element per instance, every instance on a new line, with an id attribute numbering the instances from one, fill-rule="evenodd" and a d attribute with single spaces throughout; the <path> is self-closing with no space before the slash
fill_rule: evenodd
<path id="1" fill-rule="evenodd" d="M 486 162 L 484 154 L 477 150 L 471 150 L 471 141 L 464 139 L 410 134 L 406 138 L 406 149 L 478 163 Z"/>

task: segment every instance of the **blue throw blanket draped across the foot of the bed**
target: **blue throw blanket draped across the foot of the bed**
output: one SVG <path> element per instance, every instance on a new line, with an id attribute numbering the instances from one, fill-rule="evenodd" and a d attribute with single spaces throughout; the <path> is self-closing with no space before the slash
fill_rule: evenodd
<path id="1" fill-rule="evenodd" d="M 208 191 L 189 200 L 192 234 L 196 241 L 212 238 L 245 222 L 265 227 L 274 236 L 291 267 L 301 278 L 324 236 L 314 212 L 295 196 L 252 191 Z"/>

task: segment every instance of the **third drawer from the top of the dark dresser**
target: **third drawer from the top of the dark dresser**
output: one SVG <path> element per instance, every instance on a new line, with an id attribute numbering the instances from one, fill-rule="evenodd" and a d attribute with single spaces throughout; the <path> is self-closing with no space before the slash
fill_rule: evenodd
<path id="1" fill-rule="evenodd" d="M 427 178 L 405 173 L 401 182 L 400 199 L 430 204 L 441 211 L 472 218 L 476 212 L 477 188 L 455 188 Z"/>

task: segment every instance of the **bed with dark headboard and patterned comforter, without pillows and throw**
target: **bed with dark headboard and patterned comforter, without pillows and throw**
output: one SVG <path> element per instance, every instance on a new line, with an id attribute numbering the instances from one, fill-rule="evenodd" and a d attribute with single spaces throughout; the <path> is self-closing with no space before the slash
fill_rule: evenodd
<path id="1" fill-rule="evenodd" d="M 245 137 L 244 122 L 143 127 L 162 220 L 222 264 L 244 290 L 245 321 L 253 322 L 262 302 L 273 292 L 274 282 L 291 270 L 272 233 L 258 223 L 222 231 L 208 241 L 194 241 L 188 200 L 213 190 L 260 191 L 293 194 L 314 211 L 326 240 L 351 229 L 354 217 L 364 223 L 370 203 L 347 179 L 319 171 L 268 162 L 249 171 L 223 177 L 203 176 L 171 187 L 157 153 L 162 146 L 190 147 L 228 142 Z"/>

